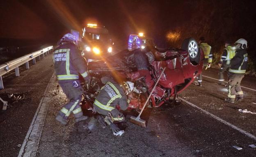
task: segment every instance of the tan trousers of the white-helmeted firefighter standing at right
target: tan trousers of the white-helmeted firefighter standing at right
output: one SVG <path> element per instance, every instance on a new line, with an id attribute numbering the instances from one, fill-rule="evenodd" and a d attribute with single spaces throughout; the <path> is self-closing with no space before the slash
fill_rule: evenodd
<path id="1" fill-rule="evenodd" d="M 244 96 L 240 83 L 244 77 L 244 73 L 229 73 L 229 82 L 228 82 L 228 97 L 229 99 L 235 99 L 237 97 L 242 98 Z"/>

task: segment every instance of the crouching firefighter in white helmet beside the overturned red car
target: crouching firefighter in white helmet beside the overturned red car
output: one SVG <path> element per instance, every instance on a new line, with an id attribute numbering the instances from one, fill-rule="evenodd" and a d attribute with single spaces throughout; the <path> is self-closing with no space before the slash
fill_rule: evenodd
<path id="1" fill-rule="evenodd" d="M 101 88 L 93 104 L 96 112 L 101 114 L 97 115 L 97 120 L 102 128 L 105 128 L 107 124 L 110 126 L 114 135 L 121 136 L 124 131 L 120 130 L 114 122 L 122 122 L 124 115 L 119 112 L 116 106 L 119 105 L 123 111 L 128 108 L 130 100 L 127 99 L 126 95 L 133 91 L 134 83 L 127 81 L 119 85 L 109 77 L 102 77 L 101 82 L 105 86 Z"/>

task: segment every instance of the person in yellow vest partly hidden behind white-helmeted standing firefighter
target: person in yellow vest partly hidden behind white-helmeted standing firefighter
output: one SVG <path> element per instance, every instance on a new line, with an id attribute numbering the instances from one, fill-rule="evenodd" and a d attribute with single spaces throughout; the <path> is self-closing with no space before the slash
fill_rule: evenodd
<path id="1" fill-rule="evenodd" d="M 231 46 L 230 42 L 225 43 L 225 49 L 223 50 L 220 62 L 219 62 L 219 83 L 225 85 L 224 83 L 224 72 L 229 70 L 230 60 L 235 55 L 235 49 Z"/>

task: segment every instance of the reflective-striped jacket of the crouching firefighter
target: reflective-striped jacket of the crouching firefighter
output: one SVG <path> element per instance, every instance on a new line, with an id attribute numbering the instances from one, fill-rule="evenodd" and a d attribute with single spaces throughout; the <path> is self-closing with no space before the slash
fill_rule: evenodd
<path id="1" fill-rule="evenodd" d="M 102 77 L 101 82 L 105 86 L 101 88 L 100 93 L 95 99 L 94 108 L 96 111 L 103 114 L 105 111 L 110 112 L 114 110 L 117 105 L 120 106 L 121 110 L 126 110 L 128 104 L 123 88 L 109 77 Z"/>

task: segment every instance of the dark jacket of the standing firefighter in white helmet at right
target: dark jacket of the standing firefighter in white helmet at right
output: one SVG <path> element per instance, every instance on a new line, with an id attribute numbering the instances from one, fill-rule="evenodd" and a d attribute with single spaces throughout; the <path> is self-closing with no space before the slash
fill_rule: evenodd
<path id="1" fill-rule="evenodd" d="M 231 59 L 229 72 L 245 73 L 248 64 L 248 54 L 245 49 L 235 51 L 235 56 Z"/>

